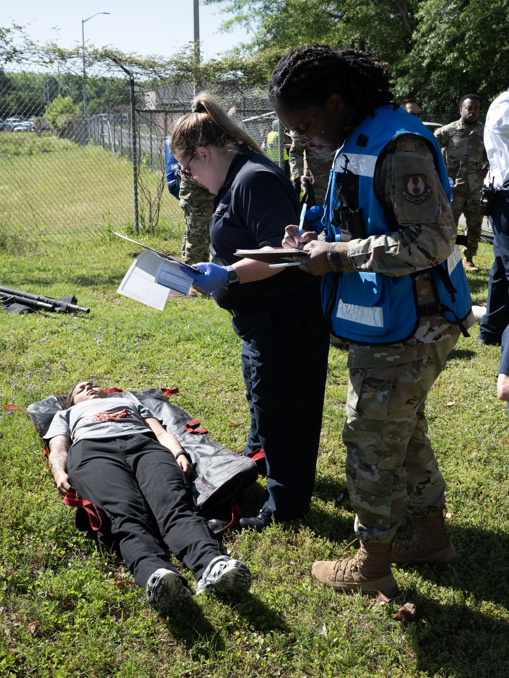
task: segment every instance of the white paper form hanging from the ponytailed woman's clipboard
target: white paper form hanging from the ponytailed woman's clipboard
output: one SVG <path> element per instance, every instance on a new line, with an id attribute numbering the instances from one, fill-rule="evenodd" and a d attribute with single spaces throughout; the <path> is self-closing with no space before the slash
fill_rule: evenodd
<path id="1" fill-rule="evenodd" d="M 125 274 L 116 291 L 118 294 L 123 294 L 130 299 L 146 304 L 146 306 L 152 306 L 152 308 L 158 308 L 159 311 L 162 311 L 169 290 L 167 287 L 162 287 L 162 285 L 156 283 L 160 264 L 161 259 L 157 254 L 150 250 L 143 250 L 129 267 L 129 271 Z"/>

